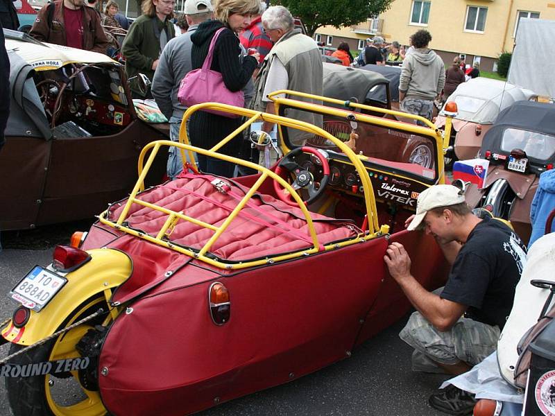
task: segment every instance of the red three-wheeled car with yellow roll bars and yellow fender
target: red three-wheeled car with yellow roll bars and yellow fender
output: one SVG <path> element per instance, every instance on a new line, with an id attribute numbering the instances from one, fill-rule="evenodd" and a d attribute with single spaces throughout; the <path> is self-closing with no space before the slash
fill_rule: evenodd
<path id="1" fill-rule="evenodd" d="M 182 143 L 144 147 L 129 198 L 13 288 L 20 305 L 1 332 L 12 345 L 0 372 L 15 415 L 184 415 L 348 358 L 409 310 L 384 266 L 393 241 L 420 283 L 442 284 L 434 239 L 403 227 L 418 193 L 444 182 L 441 133 L 361 114 L 355 103 L 275 97 L 280 115 L 189 108 Z M 195 148 L 185 120 L 198 110 L 245 122 L 214 148 Z M 283 116 L 307 112 L 321 127 Z M 284 157 L 273 170 L 218 152 L 260 119 L 279 127 Z M 348 123 L 348 137 L 327 132 L 332 121 Z M 434 163 L 393 149 L 415 143 L 432 149 Z M 228 179 L 187 166 L 144 189 L 167 146 L 257 174 Z"/>

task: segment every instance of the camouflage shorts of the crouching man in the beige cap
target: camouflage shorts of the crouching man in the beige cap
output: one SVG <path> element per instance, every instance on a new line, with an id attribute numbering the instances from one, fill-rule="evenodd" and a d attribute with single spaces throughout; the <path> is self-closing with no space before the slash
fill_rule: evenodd
<path id="1" fill-rule="evenodd" d="M 452 365 L 464 361 L 476 365 L 495 351 L 499 333 L 497 326 L 468 318 L 460 318 L 449 331 L 441 332 L 415 312 L 399 336 L 436 363 Z"/>

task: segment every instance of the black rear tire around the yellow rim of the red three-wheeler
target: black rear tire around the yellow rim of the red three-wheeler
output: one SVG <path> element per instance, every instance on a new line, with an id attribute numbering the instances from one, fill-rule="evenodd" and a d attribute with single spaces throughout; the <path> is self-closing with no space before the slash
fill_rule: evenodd
<path id="1" fill-rule="evenodd" d="M 89 300 L 80 304 L 78 308 L 74 311 L 71 311 L 69 314 L 69 318 L 65 320 L 65 322 L 60 325 L 60 328 L 67 327 L 68 324 L 76 322 L 77 320 L 85 318 L 85 316 L 90 315 L 96 312 L 100 307 L 102 307 L 105 311 L 107 311 L 107 306 L 105 304 L 105 300 L 103 297 L 92 297 Z M 51 361 L 53 355 L 53 349 L 60 345 L 58 341 L 63 340 L 66 334 L 69 334 L 71 331 L 86 331 L 87 328 L 94 327 L 95 324 L 101 324 L 103 317 L 97 317 L 93 320 L 76 327 L 75 329 L 71 329 L 65 334 L 60 335 L 58 338 L 54 338 L 50 340 L 48 343 L 44 343 L 43 345 L 39 345 L 34 347 L 28 352 L 21 354 L 15 358 L 12 358 L 9 363 L 11 364 L 30 364 L 30 363 L 40 363 L 44 361 Z M 76 334 L 74 333 L 74 334 Z M 23 347 L 20 345 L 12 344 L 10 347 L 9 354 L 13 354 L 18 352 Z M 49 392 L 46 392 L 46 384 L 49 383 L 50 385 L 54 385 L 58 383 L 58 381 L 62 382 L 62 380 L 68 380 L 69 382 L 75 381 L 78 382 L 70 373 L 65 374 L 46 374 L 45 376 L 32 376 L 32 377 L 6 377 L 6 390 L 8 392 L 8 401 L 10 402 L 10 407 L 12 408 L 12 412 L 14 416 L 48 416 L 48 415 L 79 415 L 80 412 L 75 411 L 67 411 L 65 412 L 63 406 L 69 406 L 68 404 L 55 404 L 55 406 L 60 406 L 57 410 L 49 404 L 47 399 L 47 394 L 49 397 L 53 396 L 53 390 L 49 387 Z M 65 383 L 65 381 L 64 381 Z M 80 384 L 80 383 L 79 383 Z M 82 388 L 82 386 L 81 386 Z M 99 404 L 101 405 L 102 402 L 99 397 Z M 61 410 L 60 410 L 61 409 Z M 105 408 L 103 411 L 99 411 L 98 414 L 105 415 L 107 412 Z"/>

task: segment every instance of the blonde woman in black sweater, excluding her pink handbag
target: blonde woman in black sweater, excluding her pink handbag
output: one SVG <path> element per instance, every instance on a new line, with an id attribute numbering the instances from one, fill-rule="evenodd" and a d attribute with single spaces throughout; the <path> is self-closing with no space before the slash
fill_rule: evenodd
<path id="1" fill-rule="evenodd" d="M 214 20 L 205 21 L 191 35 L 193 48 L 191 63 L 193 69 L 203 67 L 209 55 L 210 44 L 216 33 L 218 37 L 213 46 L 210 69 L 221 73 L 223 84 L 231 92 L 240 91 L 253 76 L 258 65 L 258 54 L 241 57 L 239 37 L 250 24 L 253 15 L 260 8 L 259 0 L 216 0 L 214 3 Z M 219 29 L 223 31 L 219 32 Z M 230 119 L 219 114 L 198 111 L 191 116 L 189 139 L 193 146 L 209 149 L 235 130 L 241 119 Z M 221 148 L 219 153 L 237 156 L 241 140 L 232 139 Z M 198 167 L 205 173 L 232 177 L 235 165 L 221 159 L 198 155 Z"/>

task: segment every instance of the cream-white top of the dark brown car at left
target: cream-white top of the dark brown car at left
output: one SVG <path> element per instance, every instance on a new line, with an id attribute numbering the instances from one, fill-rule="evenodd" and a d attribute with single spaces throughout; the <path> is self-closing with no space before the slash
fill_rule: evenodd
<path id="1" fill-rule="evenodd" d="M 67 64 L 78 63 L 116 63 L 108 55 L 83 49 L 70 48 L 44 42 L 44 46 L 21 40 L 6 39 L 6 49 L 15 51 L 35 71 L 58 69 Z"/>

